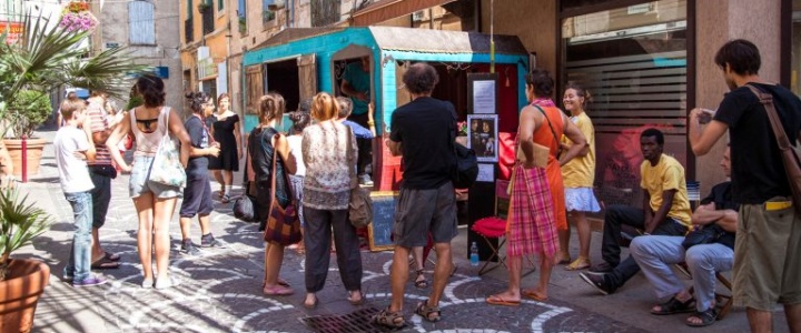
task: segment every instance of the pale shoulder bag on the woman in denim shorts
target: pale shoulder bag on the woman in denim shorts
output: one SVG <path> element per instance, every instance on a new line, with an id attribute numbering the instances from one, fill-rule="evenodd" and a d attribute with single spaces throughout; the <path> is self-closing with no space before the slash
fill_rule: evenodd
<path id="1" fill-rule="evenodd" d="M 186 186 L 186 171 L 184 170 L 184 164 L 180 162 L 178 144 L 170 138 L 170 109 L 165 108 L 165 110 L 167 110 L 165 134 L 161 137 L 161 142 L 156 151 L 152 164 L 150 164 L 150 178 L 148 180 L 165 185 L 184 188 Z M 165 111 L 162 110 L 161 113 L 165 113 Z"/>

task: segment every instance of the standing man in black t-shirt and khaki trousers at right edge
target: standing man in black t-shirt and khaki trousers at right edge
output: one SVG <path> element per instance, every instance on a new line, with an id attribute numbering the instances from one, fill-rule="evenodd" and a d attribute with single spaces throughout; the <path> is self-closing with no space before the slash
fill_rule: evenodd
<path id="1" fill-rule="evenodd" d="M 706 154 L 729 130 L 732 191 L 740 203 L 734 245 L 734 305 L 745 306 L 754 332 L 772 330 L 773 304 L 784 305 L 790 331 L 801 332 L 801 215 L 791 190 L 765 108 L 749 89 L 773 97 L 784 133 L 792 144 L 801 134 L 801 100 L 785 88 L 759 77 L 759 49 L 746 40 L 725 43 L 715 63 L 731 89 L 714 112 L 690 112 L 690 144 Z M 709 122 L 705 129 L 702 123 Z"/>

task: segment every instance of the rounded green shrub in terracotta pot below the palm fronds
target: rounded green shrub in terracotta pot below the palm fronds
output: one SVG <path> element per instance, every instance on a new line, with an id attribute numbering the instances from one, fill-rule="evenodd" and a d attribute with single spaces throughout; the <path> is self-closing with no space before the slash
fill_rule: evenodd
<path id="1" fill-rule="evenodd" d="M 10 133 L 14 138 L 6 139 L 6 148 L 9 151 L 16 174 L 22 173 L 22 139 L 26 139 L 27 169 L 28 174 L 39 173 L 39 162 L 47 141 L 41 138 L 33 138 L 33 130 L 43 123 L 51 112 L 50 95 L 36 90 L 22 90 L 8 107 L 9 114 L 6 118 L 10 122 Z"/>

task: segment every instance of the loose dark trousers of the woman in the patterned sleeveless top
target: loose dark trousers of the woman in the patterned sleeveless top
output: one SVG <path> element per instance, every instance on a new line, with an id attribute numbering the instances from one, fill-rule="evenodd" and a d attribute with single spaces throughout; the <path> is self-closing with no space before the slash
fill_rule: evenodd
<path id="1" fill-rule="evenodd" d="M 339 278 L 348 291 L 362 290 L 362 252 L 356 228 L 347 210 L 316 210 L 304 206 L 306 226 L 306 291 L 316 293 L 325 286 L 330 264 L 330 236 L 334 229 Z"/>

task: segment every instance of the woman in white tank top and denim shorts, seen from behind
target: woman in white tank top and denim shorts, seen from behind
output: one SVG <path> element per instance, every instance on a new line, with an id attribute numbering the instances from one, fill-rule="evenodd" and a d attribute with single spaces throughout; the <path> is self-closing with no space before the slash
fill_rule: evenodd
<path id="1" fill-rule="evenodd" d="M 184 129 L 180 115 L 164 105 L 165 91 L 161 79 L 145 75 L 136 83 L 137 91 L 145 99 L 145 104 L 129 112 L 130 121 L 121 121 L 106 141 L 111 158 L 123 172 L 130 172 L 129 190 L 134 205 L 139 215 L 137 248 L 142 264 L 142 287 L 167 289 L 178 284 L 177 280 L 167 275 L 169 265 L 169 222 L 172 220 L 181 189 L 148 180 L 154 155 L 158 151 L 164 135 L 174 135 L 180 141 L 180 160 L 186 168 L 189 160 L 191 142 Z M 169 128 L 168 128 L 169 127 Z M 127 134 L 136 138 L 134 163 L 129 165 L 117 149 L 117 144 Z M 152 212 L 151 214 L 145 213 Z M 152 248 L 156 249 L 156 270 L 154 280 Z"/>

